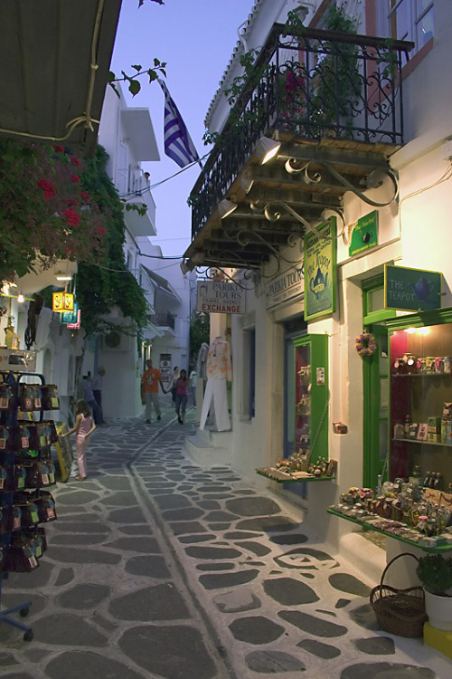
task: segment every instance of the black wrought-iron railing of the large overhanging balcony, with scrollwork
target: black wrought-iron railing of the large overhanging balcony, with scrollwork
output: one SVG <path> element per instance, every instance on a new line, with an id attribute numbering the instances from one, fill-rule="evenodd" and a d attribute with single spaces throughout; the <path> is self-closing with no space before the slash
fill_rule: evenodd
<path id="1" fill-rule="evenodd" d="M 192 191 L 192 237 L 250 159 L 257 141 L 332 138 L 360 145 L 403 144 L 402 59 L 412 43 L 275 24 L 243 85 L 220 141 Z M 350 143 L 348 145 L 350 147 Z"/>

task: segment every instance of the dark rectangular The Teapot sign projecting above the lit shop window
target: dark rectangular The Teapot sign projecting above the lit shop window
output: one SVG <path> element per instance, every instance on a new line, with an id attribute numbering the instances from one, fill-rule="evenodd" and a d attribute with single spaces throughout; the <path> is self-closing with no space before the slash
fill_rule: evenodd
<path id="1" fill-rule="evenodd" d="M 441 308 L 442 273 L 384 267 L 384 307 L 403 311 L 430 311 Z"/>

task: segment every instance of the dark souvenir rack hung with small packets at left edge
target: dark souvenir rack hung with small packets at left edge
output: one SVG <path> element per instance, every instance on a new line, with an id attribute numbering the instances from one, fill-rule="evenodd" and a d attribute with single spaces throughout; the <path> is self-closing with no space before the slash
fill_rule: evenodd
<path id="1" fill-rule="evenodd" d="M 40 524 L 57 518 L 52 494 L 43 489 L 55 483 L 51 445 L 58 438 L 44 412 L 58 408 L 56 387 L 42 375 L 0 371 L 0 623 L 22 630 L 24 641 L 33 630 L 12 615 L 26 617 L 31 602 L 2 610 L 2 584 L 11 572 L 38 568 L 47 549 Z"/>

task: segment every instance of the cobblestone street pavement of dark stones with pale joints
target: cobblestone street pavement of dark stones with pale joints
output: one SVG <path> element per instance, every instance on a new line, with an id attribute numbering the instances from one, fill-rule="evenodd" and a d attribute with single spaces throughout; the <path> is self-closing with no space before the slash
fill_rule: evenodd
<path id="1" fill-rule="evenodd" d="M 3 607 L 32 600 L 33 641 L 0 626 L 4 679 L 449 679 L 450 661 L 381 632 L 372 584 L 278 498 L 184 453 L 194 433 L 111 421 L 84 483 L 54 490 L 40 567 L 11 574 Z M 18 618 L 20 619 L 20 618 Z"/>

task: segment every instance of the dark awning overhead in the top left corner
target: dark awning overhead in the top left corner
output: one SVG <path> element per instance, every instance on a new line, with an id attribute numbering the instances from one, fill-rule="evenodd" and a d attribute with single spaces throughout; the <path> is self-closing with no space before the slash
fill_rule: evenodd
<path id="1" fill-rule="evenodd" d="M 120 6 L 0 3 L 0 135 L 94 151 Z"/>

